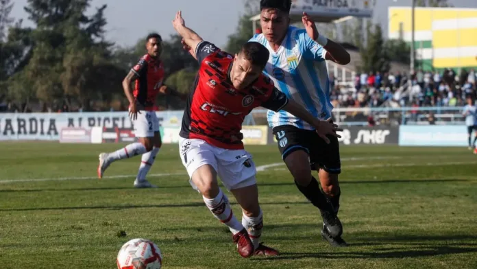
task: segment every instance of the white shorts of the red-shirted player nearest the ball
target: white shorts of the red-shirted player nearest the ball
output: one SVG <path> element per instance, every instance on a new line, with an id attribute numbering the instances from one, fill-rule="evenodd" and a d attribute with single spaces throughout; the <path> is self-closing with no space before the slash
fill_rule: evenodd
<path id="1" fill-rule="evenodd" d="M 256 184 L 256 168 L 252 155 L 245 150 L 227 150 L 210 145 L 202 139 L 179 139 L 180 159 L 190 179 L 202 165 L 211 165 L 222 180 L 225 188 L 238 189 Z"/>

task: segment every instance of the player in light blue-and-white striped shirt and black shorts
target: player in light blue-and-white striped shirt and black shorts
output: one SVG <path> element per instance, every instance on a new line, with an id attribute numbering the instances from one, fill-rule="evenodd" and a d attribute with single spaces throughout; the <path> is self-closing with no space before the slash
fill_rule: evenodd
<path id="1" fill-rule="evenodd" d="M 319 34 L 305 12 L 302 16 L 305 29 L 291 26 L 290 9 L 291 0 L 261 0 L 262 34 L 256 34 L 250 41 L 256 41 L 269 50 L 265 73 L 286 97 L 306 108 L 313 117 L 332 122 L 330 80 L 325 60 L 347 65 L 350 54 L 341 45 Z M 332 246 L 346 246 L 341 238 L 341 222 L 337 218 L 341 194 L 337 137 L 330 136 L 331 143 L 325 143 L 314 126 L 285 110 L 269 110 L 267 119 L 297 188 L 321 211 L 323 239 Z M 312 169 L 318 171 L 321 190 Z M 319 202 L 323 196 L 328 198 L 324 205 Z"/>

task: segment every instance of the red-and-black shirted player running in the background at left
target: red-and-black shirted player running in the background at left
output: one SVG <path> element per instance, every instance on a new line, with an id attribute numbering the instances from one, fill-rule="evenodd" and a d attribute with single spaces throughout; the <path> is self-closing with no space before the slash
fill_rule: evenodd
<path id="1" fill-rule="evenodd" d="M 156 159 L 162 141 L 159 132 L 159 119 L 154 111 L 158 93 L 171 94 L 185 99 L 186 95 L 178 93 L 164 85 L 164 67 L 160 60 L 162 38 L 159 34 L 149 34 L 146 38 L 147 54 L 140 58 L 123 80 L 123 89 L 130 102 L 129 115 L 134 126 L 138 142 L 126 145 L 115 152 L 99 154 L 98 177 L 102 178 L 108 166 L 117 160 L 143 154 L 134 187 L 157 187 L 146 179 L 147 172 Z M 135 82 L 134 91 L 131 82 Z"/>

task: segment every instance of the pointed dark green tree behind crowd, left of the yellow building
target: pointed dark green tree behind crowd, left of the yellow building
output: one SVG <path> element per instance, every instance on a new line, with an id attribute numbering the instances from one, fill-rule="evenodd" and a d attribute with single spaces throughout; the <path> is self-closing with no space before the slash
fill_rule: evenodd
<path id="1" fill-rule="evenodd" d="M 387 72 L 390 68 L 390 59 L 382 38 L 381 26 L 376 24 L 374 25 L 374 30 L 371 30 L 371 28 L 371 25 L 367 27 L 367 43 L 360 47 L 362 60 L 360 69 L 364 72 Z"/>

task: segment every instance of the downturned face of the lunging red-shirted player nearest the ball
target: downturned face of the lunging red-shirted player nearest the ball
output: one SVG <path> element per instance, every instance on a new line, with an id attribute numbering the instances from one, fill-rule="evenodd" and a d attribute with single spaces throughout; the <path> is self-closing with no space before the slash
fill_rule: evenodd
<path id="1" fill-rule="evenodd" d="M 252 62 L 243 58 L 242 54 L 235 54 L 230 80 L 235 89 L 241 90 L 256 80 L 262 71 L 260 67 L 252 65 Z"/>

